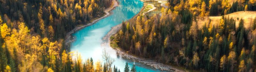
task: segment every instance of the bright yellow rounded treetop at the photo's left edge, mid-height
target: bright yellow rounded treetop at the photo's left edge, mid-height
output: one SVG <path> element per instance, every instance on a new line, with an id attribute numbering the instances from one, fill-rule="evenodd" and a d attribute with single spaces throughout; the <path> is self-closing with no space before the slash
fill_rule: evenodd
<path id="1" fill-rule="evenodd" d="M 10 35 L 10 28 L 7 27 L 6 23 L 2 24 L 0 26 L 0 29 L 1 29 L 1 36 L 3 39 L 5 39 L 5 36 L 6 35 Z"/>

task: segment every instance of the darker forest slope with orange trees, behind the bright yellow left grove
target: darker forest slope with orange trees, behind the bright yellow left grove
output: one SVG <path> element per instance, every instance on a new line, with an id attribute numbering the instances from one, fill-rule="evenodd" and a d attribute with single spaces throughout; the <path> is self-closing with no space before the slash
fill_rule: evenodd
<path id="1" fill-rule="evenodd" d="M 25 23 L 30 34 L 49 37 L 51 41 L 65 37 L 78 24 L 101 17 L 112 0 L 1 0 L 0 15 L 9 28 Z"/>

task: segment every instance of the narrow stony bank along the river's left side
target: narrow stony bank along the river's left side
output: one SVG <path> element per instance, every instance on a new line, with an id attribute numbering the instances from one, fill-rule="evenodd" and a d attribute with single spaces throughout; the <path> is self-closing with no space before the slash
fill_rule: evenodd
<path id="1" fill-rule="evenodd" d="M 112 1 L 112 4 L 110 7 L 108 7 L 107 9 L 105 9 L 105 15 L 102 16 L 101 18 L 98 18 L 96 20 L 93 20 L 91 23 L 87 23 L 87 24 L 84 24 L 84 25 L 81 25 L 81 26 L 76 26 L 76 28 L 74 28 L 73 30 L 71 30 L 70 32 L 68 32 L 65 36 L 65 48 L 66 48 L 66 51 L 70 52 L 70 43 L 72 43 L 74 41 L 74 37 L 72 37 L 71 34 L 75 33 L 76 31 L 84 28 L 84 27 L 87 27 L 87 26 L 90 26 L 92 25 L 93 23 L 95 23 L 96 21 L 100 20 L 100 19 L 103 19 L 105 17 L 107 17 L 110 13 L 109 11 L 113 10 L 116 6 L 118 6 L 118 2 L 116 0 L 113 0 Z"/>

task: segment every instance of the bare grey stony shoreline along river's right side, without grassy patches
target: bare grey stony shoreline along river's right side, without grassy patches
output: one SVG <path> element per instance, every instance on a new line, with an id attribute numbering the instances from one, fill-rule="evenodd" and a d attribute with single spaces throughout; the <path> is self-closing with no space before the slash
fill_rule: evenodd
<path id="1" fill-rule="evenodd" d="M 144 10 L 145 6 L 146 5 L 144 5 L 142 7 L 143 10 Z M 143 11 L 142 9 L 141 9 L 141 11 Z M 138 13 L 134 17 L 137 17 L 138 15 L 140 15 L 140 13 Z M 132 17 L 132 19 L 134 17 Z M 101 45 L 108 45 L 109 47 L 111 47 L 110 46 L 110 37 L 112 35 L 116 34 L 116 32 L 119 29 L 121 29 L 121 27 L 122 27 L 122 24 L 118 24 L 115 27 L 112 27 L 111 30 L 108 32 L 108 34 L 102 38 L 103 42 L 101 43 Z M 135 61 L 138 61 L 140 63 L 146 64 L 150 67 L 154 67 L 156 69 L 161 69 L 161 70 L 170 71 L 170 72 L 186 72 L 185 70 L 174 68 L 170 65 L 166 65 L 166 64 L 163 64 L 163 63 L 160 63 L 160 62 L 156 62 L 156 60 L 154 60 L 154 59 L 146 59 L 146 58 L 141 58 L 141 57 L 135 57 L 135 56 L 132 56 L 132 55 L 126 53 L 125 51 L 123 51 L 121 49 L 117 49 L 117 48 L 112 48 L 112 49 L 114 49 L 116 51 L 116 54 L 119 55 L 120 57 L 123 57 L 125 59 L 129 59 L 129 60 L 135 60 Z"/>

